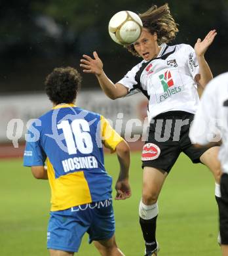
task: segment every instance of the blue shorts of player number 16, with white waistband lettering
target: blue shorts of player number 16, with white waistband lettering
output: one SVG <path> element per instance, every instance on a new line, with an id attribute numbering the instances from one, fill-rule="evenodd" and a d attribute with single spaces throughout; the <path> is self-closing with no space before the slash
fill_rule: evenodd
<path id="1" fill-rule="evenodd" d="M 107 240 L 115 233 L 112 199 L 51 211 L 47 248 L 77 252 L 83 235 L 92 240 Z"/>

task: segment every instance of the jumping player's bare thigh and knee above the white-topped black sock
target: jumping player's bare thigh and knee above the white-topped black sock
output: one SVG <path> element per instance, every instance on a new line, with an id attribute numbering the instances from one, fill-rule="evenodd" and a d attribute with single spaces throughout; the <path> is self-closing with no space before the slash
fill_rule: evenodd
<path id="1" fill-rule="evenodd" d="M 148 204 L 155 203 L 157 201 L 167 175 L 168 173 L 161 169 L 153 167 L 143 168 L 143 203 Z"/>

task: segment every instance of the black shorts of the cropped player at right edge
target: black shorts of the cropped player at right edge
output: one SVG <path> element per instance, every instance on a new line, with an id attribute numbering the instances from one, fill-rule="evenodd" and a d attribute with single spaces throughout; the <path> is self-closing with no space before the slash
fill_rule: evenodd
<path id="1" fill-rule="evenodd" d="M 221 244 L 228 245 L 228 174 L 221 175 L 221 199 L 219 200 L 219 230 Z"/>

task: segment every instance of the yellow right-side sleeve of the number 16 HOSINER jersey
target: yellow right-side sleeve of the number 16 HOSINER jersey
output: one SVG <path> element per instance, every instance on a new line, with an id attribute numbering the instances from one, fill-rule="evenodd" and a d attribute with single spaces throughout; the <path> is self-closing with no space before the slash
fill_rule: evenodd
<path id="1" fill-rule="evenodd" d="M 102 142 L 105 148 L 109 148 L 111 152 L 115 152 L 116 146 L 123 138 L 111 127 L 107 119 L 101 116 Z"/>

